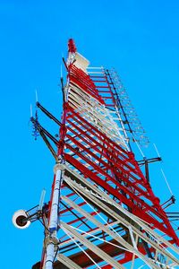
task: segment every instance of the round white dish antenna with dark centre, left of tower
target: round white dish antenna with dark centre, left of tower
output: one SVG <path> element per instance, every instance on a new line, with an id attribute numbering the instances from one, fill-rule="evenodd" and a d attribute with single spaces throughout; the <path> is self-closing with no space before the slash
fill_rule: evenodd
<path id="1" fill-rule="evenodd" d="M 25 210 L 18 210 L 13 214 L 13 225 L 18 229 L 26 229 L 30 226 L 30 221 L 27 220 L 29 217 Z"/>

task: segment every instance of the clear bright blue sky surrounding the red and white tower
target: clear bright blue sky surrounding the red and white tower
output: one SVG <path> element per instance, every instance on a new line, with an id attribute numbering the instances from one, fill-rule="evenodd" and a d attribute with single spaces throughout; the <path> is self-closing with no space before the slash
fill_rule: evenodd
<path id="1" fill-rule="evenodd" d="M 54 161 L 30 135 L 30 103 L 38 89 L 40 102 L 60 117 L 69 38 L 91 65 L 115 66 L 121 75 L 179 203 L 179 2 L 1 0 L 0 21 L 1 268 L 28 269 L 40 259 L 42 227 L 16 230 L 12 215 L 38 204 L 43 187 L 49 198 Z M 169 193 L 156 170 L 151 182 L 165 201 Z"/>

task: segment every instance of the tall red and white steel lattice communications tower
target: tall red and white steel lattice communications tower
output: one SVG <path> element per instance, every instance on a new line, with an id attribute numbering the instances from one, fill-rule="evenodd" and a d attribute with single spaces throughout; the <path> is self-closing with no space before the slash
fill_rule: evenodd
<path id="1" fill-rule="evenodd" d="M 148 164 L 160 158 L 135 160 L 131 144 L 148 139 L 122 82 L 90 68 L 72 39 L 64 65 L 62 120 L 37 103 L 59 139 L 31 117 L 56 161 L 49 204 L 27 212 L 46 227 L 33 268 L 177 268 L 179 239 L 149 184 Z"/>

